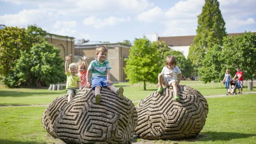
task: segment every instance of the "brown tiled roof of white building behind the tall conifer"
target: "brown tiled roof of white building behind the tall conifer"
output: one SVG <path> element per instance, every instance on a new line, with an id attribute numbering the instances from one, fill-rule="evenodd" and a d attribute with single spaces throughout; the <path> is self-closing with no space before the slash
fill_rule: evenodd
<path id="1" fill-rule="evenodd" d="M 242 35 L 242 33 L 228 33 L 229 37 L 232 35 Z M 178 36 L 178 37 L 159 37 L 159 41 L 165 41 L 169 46 L 189 46 L 196 35 Z"/>

